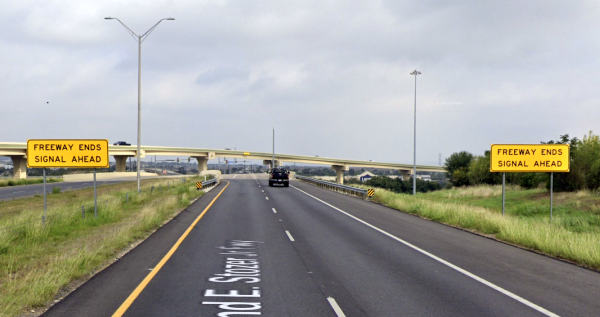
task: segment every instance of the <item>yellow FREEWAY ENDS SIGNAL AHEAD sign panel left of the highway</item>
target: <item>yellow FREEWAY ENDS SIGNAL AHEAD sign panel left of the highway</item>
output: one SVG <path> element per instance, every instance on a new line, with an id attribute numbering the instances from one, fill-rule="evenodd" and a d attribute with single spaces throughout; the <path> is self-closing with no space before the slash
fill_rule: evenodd
<path id="1" fill-rule="evenodd" d="M 27 167 L 108 167 L 108 140 L 27 140 Z"/>

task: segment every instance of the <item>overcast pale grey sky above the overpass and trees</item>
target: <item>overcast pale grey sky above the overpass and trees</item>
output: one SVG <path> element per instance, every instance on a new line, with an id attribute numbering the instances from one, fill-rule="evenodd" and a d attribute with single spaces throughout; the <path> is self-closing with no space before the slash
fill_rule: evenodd
<path id="1" fill-rule="evenodd" d="M 600 132 L 598 1 L 0 1 L 0 142 L 438 165 Z M 49 103 L 48 103 L 49 102 Z"/>

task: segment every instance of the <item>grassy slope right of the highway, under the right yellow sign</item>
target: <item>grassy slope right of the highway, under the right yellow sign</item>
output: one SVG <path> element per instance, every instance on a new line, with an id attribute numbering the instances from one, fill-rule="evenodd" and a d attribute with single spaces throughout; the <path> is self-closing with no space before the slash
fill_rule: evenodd
<path id="1" fill-rule="evenodd" d="M 427 219 L 469 229 L 496 239 L 600 269 L 600 193 L 555 193 L 507 187 L 502 216 L 502 186 L 441 190 L 417 197 L 377 189 L 374 200 Z"/>

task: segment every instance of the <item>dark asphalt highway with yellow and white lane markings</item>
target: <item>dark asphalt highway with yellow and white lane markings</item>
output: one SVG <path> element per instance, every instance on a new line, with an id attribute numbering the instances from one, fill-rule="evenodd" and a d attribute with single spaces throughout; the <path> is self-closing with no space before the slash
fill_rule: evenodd
<path id="1" fill-rule="evenodd" d="M 265 176 L 226 175 L 45 316 L 600 316 L 597 272 Z"/>

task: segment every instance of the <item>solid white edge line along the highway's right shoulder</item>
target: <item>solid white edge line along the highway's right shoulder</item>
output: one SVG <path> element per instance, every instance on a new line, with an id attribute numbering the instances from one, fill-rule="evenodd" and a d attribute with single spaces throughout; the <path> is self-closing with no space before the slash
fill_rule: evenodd
<path id="1" fill-rule="evenodd" d="M 355 217 L 355 216 L 353 216 L 353 215 L 351 215 L 351 214 L 349 214 L 349 213 L 347 213 L 347 212 L 345 212 L 345 211 L 343 211 L 343 210 L 341 210 L 341 209 L 339 209 L 339 208 L 337 208 L 337 207 L 335 207 L 335 206 L 333 206 L 333 205 L 331 205 L 331 204 L 329 204 L 329 203 L 327 203 L 327 202 L 325 202 L 325 201 L 323 201 L 323 200 L 321 200 L 321 199 L 319 199 L 319 198 L 317 198 L 317 197 L 315 197 L 315 196 L 313 196 L 313 195 L 311 195 L 311 194 L 309 194 L 309 193 L 307 193 L 307 192 L 305 192 L 305 191 L 303 191 L 303 190 L 295 187 L 295 186 L 292 186 L 292 187 L 295 188 L 296 190 L 298 190 L 298 191 L 300 191 L 300 192 L 308 195 L 309 197 L 312 197 L 313 199 L 318 200 L 318 201 L 322 202 L 323 204 L 325 204 L 325 205 L 327 205 L 327 206 L 329 206 L 329 207 L 331 207 L 331 208 L 333 208 L 333 209 L 335 209 L 335 210 L 343 213 L 344 215 L 346 215 L 346 216 L 348 216 L 348 217 L 350 217 L 350 218 L 352 218 L 352 219 L 354 219 L 354 220 L 356 220 L 356 221 L 358 221 L 358 222 L 360 222 L 360 223 L 362 223 L 362 224 L 364 224 L 364 225 L 366 225 L 368 227 L 371 227 L 372 229 L 375 229 L 375 230 L 383 233 L 384 235 L 386 235 L 386 236 L 388 236 L 388 237 L 390 237 L 390 238 L 392 238 L 392 239 L 394 239 L 394 240 L 396 240 L 396 241 L 398 241 L 398 242 L 406 245 L 407 247 L 410 247 L 410 248 L 412 248 L 415 251 L 418 251 L 418 252 L 420 252 L 420 253 L 422 253 L 422 254 L 424 254 L 424 255 L 426 255 L 426 256 L 428 256 L 428 257 L 430 257 L 430 258 L 432 258 L 432 259 L 434 259 L 434 260 L 436 260 L 436 261 L 438 261 L 438 262 L 440 262 L 440 263 L 442 263 L 442 264 L 444 264 L 444 265 L 446 265 L 446 266 L 448 266 L 448 267 L 450 267 L 450 268 L 452 268 L 452 269 L 454 269 L 454 270 L 456 270 L 456 271 L 458 271 L 458 272 L 460 272 L 460 273 L 462 273 L 462 274 L 464 274 L 464 275 L 466 275 L 466 276 L 468 276 L 468 277 L 470 277 L 470 278 L 472 278 L 472 279 L 474 279 L 474 280 L 476 280 L 476 281 L 484 284 L 484 285 L 487 285 L 488 287 L 490 287 L 492 289 L 495 289 L 496 291 L 498 291 L 498 292 L 500 292 L 500 293 L 502 293 L 502 294 L 504 294 L 504 295 L 506 295 L 506 296 L 508 296 L 508 297 L 510 297 L 510 298 L 512 298 L 512 299 L 514 299 L 514 300 L 516 300 L 516 301 L 524 304 L 524 305 L 527 305 L 527 306 L 529 306 L 529 307 L 531 307 L 531 308 L 539 311 L 540 313 L 542 313 L 542 314 L 544 314 L 546 316 L 559 317 L 557 314 L 555 314 L 555 313 L 553 313 L 553 312 L 551 312 L 551 311 L 549 311 L 549 310 L 547 310 L 547 309 L 545 309 L 543 307 L 540 307 L 540 306 L 538 306 L 538 305 L 536 305 L 536 304 L 534 304 L 534 303 L 532 303 L 532 302 L 524 299 L 523 297 L 520 297 L 520 296 L 518 296 L 518 295 L 516 295 L 514 293 L 511 293 L 511 292 L 503 289 L 500 286 L 497 286 L 497 285 L 495 285 L 495 284 L 493 284 L 491 282 L 488 282 L 488 281 L 484 280 L 483 278 L 481 278 L 481 277 L 479 277 L 479 276 L 477 276 L 477 275 L 475 275 L 475 274 L 473 274 L 473 273 L 471 273 L 471 272 L 469 272 L 467 270 L 461 269 L 460 267 L 458 267 L 458 266 L 456 266 L 456 265 L 454 265 L 454 264 L 452 264 L 452 263 L 450 263 L 450 262 L 448 262 L 446 260 L 438 258 L 437 256 L 435 256 L 435 255 L 433 255 L 433 254 L 431 254 L 431 253 L 429 253 L 429 252 L 427 252 L 427 251 L 425 251 L 423 249 L 420 249 L 420 248 L 418 248 L 418 247 L 416 247 L 416 246 L 414 246 L 414 245 L 412 245 L 412 244 L 410 244 L 410 243 L 408 243 L 408 242 L 406 242 L 406 241 L 404 241 L 404 240 L 402 240 L 402 239 L 394 236 L 391 233 L 388 233 L 388 232 L 386 232 L 386 231 L 384 231 L 382 229 L 379 229 L 379 228 L 375 227 L 374 225 L 372 225 L 372 224 L 370 224 L 370 223 L 368 223 L 368 222 L 366 222 L 366 221 L 364 221 L 364 220 L 362 220 L 360 218 L 357 218 L 357 217 Z"/>

